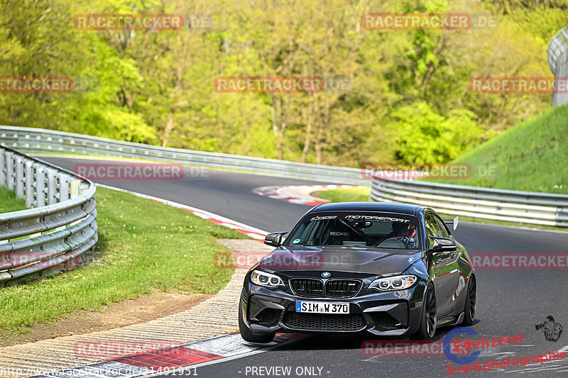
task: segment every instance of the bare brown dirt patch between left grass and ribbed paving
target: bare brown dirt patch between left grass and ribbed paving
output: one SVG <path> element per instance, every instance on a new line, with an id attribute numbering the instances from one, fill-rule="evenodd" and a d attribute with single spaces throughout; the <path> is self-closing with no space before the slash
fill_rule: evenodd
<path id="1" fill-rule="evenodd" d="M 131 324 L 151 321 L 195 306 L 209 294 L 180 294 L 155 291 L 113 306 L 104 306 L 102 311 L 77 311 L 51 324 L 35 324 L 22 328 L 23 334 L 0 339 L 0 348 L 32 341 L 80 335 L 98 330 L 109 330 Z"/>

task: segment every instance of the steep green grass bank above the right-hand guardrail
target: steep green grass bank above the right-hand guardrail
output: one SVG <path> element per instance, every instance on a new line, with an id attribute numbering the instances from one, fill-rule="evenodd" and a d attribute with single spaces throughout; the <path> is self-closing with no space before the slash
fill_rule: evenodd
<path id="1" fill-rule="evenodd" d="M 437 180 L 522 191 L 568 194 L 568 106 L 519 123 L 454 162 L 492 166 L 493 177 Z"/>

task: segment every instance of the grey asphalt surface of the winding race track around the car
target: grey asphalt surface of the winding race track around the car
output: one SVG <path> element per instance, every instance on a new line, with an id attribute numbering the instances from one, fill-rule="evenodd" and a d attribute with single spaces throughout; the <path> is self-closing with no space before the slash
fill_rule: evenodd
<path id="1" fill-rule="evenodd" d="M 43 159 L 67 169 L 73 169 L 78 162 L 93 162 L 93 160 L 61 157 L 43 157 Z M 310 208 L 258 196 L 253 194 L 254 188 L 266 185 L 322 184 L 307 180 L 217 170 L 207 170 L 207 173 L 207 177 L 200 179 L 102 183 L 195 206 L 269 232 L 290 229 L 297 218 Z M 568 233 L 461 223 L 454 235 L 471 254 L 476 252 L 568 253 Z M 568 330 L 564 330 L 557 342 L 545 340 L 542 330 L 535 330 L 535 324 L 542 323 L 549 315 L 554 316 L 555 321 L 564 328 L 568 327 L 566 270 L 480 269 L 477 271 L 477 282 L 477 320 L 471 328 L 484 338 L 522 334 L 524 342 L 484 349 L 476 362 L 489 362 L 491 358 L 501 360 L 506 357 L 541 355 L 546 354 L 548 350 L 554 352 L 562 348 L 564 352 L 568 352 Z M 436 338 L 440 340 L 444 338 L 449 329 L 451 328 L 439 330 Z M 459 338 L 466 338 L 466 335 L 461 335 Z M 197 374 L 199 377 L 448 376 L 447 367 L 451 362 L 445 356 L 366 356 L 361 351 L 361 343 L 366 339 L 366 337 L 312 336 L 293 345 L 258 355 L 197 367 Z M 531 362 L 525 367 L 494 368 L 485 373 L 461 372 L 460 376 L 506 374 L 509 377 L 566 377 L 567 361 L 568 358 L 544 364 Z M 263 369 L 259 369 L 260 367 Z M 291 367 L 290 374 L 266 374 L 266 369 L 271 367 Z"/>

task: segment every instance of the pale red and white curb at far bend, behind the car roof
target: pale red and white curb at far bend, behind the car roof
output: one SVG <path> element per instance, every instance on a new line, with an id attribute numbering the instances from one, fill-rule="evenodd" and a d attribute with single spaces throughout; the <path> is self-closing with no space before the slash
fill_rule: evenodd
<path id="1" fill-rule="evenodd" d="M 314 191 L 353 188 L 360 189 L 365 187 L 362 185 L 290 185 L 287 187 L 260 187 L 253 189 L 253 193 L 259 196 L 287 201 L 290 204 L 317 206 L 328 204 L 329 201 L 312 196 Z"/>

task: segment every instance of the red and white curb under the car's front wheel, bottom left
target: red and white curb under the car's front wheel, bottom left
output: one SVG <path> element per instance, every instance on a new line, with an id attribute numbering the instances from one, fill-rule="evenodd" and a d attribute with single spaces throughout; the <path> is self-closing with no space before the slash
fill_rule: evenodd
<path id="1" fill-rule="evenodd" d="M 35 375 L 28 377 L 133 378 L 163 374 L 198 375 L 198 367 L 266 352 L 303 337 L 305 335 L 277 333 L 271 343 L 253 344 L 244 341 L 240 333 L 230 333 L 207 340 L 194 341 L 175 348 L 153 350 L 69 369 L 41 371 L 38 368 L 35 370 Z"/>

